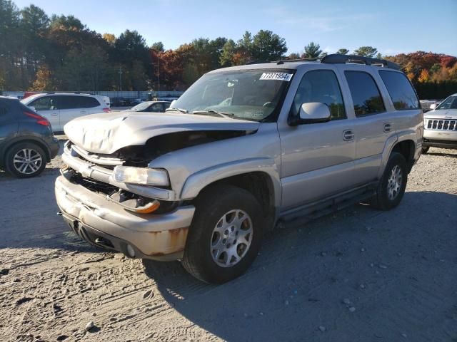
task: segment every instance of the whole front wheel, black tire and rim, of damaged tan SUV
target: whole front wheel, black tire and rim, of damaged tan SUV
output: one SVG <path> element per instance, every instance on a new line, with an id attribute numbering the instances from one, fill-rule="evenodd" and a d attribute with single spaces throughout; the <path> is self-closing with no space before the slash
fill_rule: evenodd
<path id="1" fill-rule="evenodd" d="M 215 185 L 196 199 L 182 264 L 210 284 L 241 276 L 252 264 L 263 237 L 262 208 L 251 192 Z"/>

